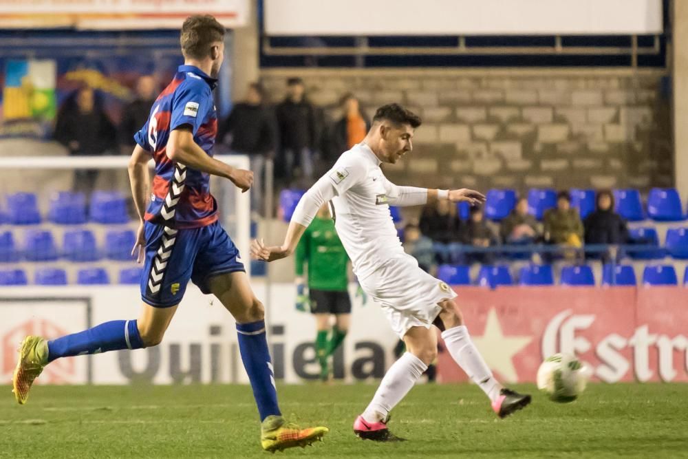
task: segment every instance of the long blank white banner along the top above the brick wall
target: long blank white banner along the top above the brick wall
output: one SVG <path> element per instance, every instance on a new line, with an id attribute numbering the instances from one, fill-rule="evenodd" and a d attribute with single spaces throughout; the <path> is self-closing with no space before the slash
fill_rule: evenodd
<path id="1" fill-rule="evenodd" d="M 662 0 L 265 0 L 264 8 L 266 32 L 278 36 L 625 35 L 663 30 Z"/>

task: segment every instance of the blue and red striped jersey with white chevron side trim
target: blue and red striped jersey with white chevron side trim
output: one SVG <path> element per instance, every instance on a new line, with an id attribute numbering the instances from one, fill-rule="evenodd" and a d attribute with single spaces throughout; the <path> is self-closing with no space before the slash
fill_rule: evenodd
<path id="1" fill-rule="evenodd" d="M 155 178 L 146 220 L 174 228 L 199 228 L 217 221 L 217 202 L 210 193 L 210 175 L 167 157 L 170 132 L 187 125 L 193 140 L 213 156 L 217 114 L 213 89 L 217 79 L 193 65 L 180 65 L 172 82 L 160 93 L 146 124 L 134 135 L 155 160 Z"/>

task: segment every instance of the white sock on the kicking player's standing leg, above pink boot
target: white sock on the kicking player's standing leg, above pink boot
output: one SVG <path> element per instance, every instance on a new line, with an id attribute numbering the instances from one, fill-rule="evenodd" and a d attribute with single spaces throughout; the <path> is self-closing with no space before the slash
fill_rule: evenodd
<path id="1" fill-rule="evenodd" d="M 372 401 L 363 412 L 363 419 L 368 423 L 378 423 L 387 418 L 391 409 L 409 393 L 427 367 L 411 352 L 405 352 L 389 367 Z"/>

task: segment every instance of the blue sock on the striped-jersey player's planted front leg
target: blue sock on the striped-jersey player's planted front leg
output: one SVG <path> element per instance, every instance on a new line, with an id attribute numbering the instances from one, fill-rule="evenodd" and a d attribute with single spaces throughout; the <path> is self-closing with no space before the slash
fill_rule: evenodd
<path id="1" fill-rule="evenodd" d="M 239 352 L 253 389 L 261 422 L 270 415 L 280 416 L 277 389 L 268 352 L 265 321 L 237 323 Z"/>

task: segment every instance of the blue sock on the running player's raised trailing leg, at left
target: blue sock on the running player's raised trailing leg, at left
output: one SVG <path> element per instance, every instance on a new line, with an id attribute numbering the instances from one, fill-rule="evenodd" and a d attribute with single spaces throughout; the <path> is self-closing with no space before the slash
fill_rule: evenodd
<path id="1" fill-rule="evenodd" d="M 143 348 L 136 321 L 111 321 L 47 342 L 47 361 L 60 357 Z"/>

